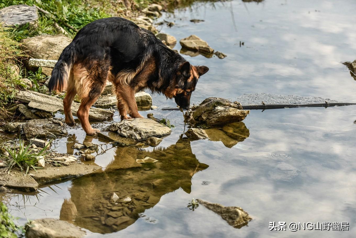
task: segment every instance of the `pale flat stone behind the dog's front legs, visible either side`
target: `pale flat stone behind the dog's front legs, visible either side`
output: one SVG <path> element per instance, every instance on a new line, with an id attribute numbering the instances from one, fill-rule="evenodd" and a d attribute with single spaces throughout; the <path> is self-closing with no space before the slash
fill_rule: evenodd
<path id="1" fill-rule="evenodd" d="M 138 107 L 145 107 L 152 105 L 152 97 L 146 92 L 138 92 L 135 94 L 135 100 Z M 101 97 L 94 103 L 95 107 L 112 107 L 116 106 L 116 96 L 101 95 Z"/>

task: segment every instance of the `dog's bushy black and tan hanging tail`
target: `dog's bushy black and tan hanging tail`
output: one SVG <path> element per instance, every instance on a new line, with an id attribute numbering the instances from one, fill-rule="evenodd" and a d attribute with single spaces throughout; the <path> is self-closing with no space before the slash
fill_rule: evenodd
<path id="1" fill-rule="evenodd" d="M 52 76 L 49 79 L 49 92 L 62 92 L 68 86 L 70 70 L 75 61 L 75 44 L 70 43 L 59 56 L 58 62 L 52 70 Z"/>

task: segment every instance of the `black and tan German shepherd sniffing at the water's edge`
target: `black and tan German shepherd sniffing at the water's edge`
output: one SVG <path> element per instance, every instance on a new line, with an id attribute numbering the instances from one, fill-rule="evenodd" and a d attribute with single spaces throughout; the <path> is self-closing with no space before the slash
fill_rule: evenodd
<path id="1" fill-rule="evenodd" d="M 121 119 L 142 118 L 135 93 L 142 89 L 174 98 L 188 109 L 198 78 L 206 66 L 193 66 L 165 46 L 148 30 L 122 17 L 100 19 L 84 26 L 64 48 L 53 68 L 49 91 L 67 90 L 63 100 L 66 123 L 74 126 L 70 109 L 77 94 L 81 99 L 77 117 L 88 135 L 99 130 L 89 124 L 89 108 L 112 82 Z"/>

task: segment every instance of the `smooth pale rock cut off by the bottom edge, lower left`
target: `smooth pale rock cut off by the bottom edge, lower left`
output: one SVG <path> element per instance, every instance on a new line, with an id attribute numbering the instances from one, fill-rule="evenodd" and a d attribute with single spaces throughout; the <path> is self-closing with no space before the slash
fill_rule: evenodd
<path id="1" fill-rule="evenodd" d="M 53 218 L 33 220 L 26 231 L 27 238 L 82 238 L 85 234 L 79 227 Z"/>

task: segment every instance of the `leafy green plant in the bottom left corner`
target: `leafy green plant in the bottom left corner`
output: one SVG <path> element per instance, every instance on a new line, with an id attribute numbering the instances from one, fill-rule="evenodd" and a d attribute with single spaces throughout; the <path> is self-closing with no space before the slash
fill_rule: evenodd
<path id="1" fill-rule="evenodd" d="M 14 223 L 14 218 L 9 213 L 6 205 L 0 201 L 0 237 L 17 238 L 16 233 L 25 233 L 22 226 Z"/>

